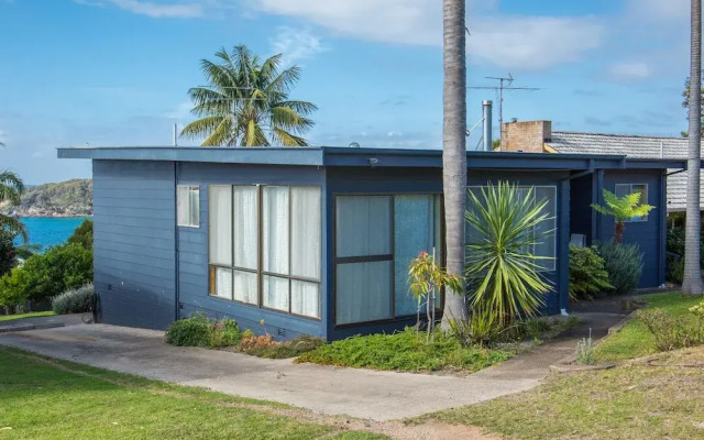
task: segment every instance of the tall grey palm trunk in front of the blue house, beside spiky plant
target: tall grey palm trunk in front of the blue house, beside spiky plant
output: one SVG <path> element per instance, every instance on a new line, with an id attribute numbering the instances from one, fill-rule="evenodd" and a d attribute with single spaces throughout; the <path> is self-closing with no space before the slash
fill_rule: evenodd
<path id="1" fill-rule="evenodd" d="M 444 193 L 448 273 L 463 279 L 464 208 L 466 204 L 466 54 L 464 0 L 443 0 L 443 128 L 442 185 Z M 464 292 L 447 289 L 442 329 L 466 319 Z"/>

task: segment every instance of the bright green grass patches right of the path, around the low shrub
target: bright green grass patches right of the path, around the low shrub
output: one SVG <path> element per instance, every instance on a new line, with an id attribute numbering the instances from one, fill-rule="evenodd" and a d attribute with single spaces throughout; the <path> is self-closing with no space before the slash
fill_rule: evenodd
<path id="1" fill-rule="evenodd" d="M 648 307 L 664 308 L 671 314 L 691 317 L 689 308 L 698 304 L 701 299 L 683 298 L 680 293 L 647 295 L 641 298 Z M 594 350 L 597 362 L 617 362 L 627 359 L 646 356 L 657 353 L 654 338 L 646 327 L 637 320 L 631 320 L 620 331 L 601 342 Z"/>

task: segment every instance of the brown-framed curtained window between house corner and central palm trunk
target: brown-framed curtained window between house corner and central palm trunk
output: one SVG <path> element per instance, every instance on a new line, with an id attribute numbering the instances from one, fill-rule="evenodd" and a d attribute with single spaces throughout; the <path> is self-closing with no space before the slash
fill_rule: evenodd
<path id="1" fill-rule="evenodd" d="M 338 196 L 336 324 L 415 315 L 408 264 L 441 248 L 439 195 Z"/>

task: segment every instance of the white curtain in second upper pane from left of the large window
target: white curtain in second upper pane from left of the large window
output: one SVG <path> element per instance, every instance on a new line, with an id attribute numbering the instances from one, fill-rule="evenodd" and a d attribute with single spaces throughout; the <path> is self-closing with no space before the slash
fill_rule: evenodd
<path id="1" fill-rule="evenodd" d="M 235 186 L 232 193 L 234 266 L 256 271 L 257 190 L 255 186 Z"/>

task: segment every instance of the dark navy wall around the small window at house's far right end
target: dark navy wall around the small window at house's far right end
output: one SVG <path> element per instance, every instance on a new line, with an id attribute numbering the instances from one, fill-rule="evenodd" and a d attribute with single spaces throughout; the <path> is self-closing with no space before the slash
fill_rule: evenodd
<path id="1" fill-rule="evenodd" d="M 667 240 L 667 201 L 666 177 L 661 169 L 605 170 L 603 188 L 616 191 L 616 185 L 647 185 L 648 205 L 656 208 L 650 211 L 646 221 L 626 222 L 624 243 L 636 243 L 642 252 L 642 275 L 638 287 L 658 287 L 664 283 L 666 240 Z M 604 202 L 602 189 L 597 191 L 598 204 Z M 614 218 L 596 216 L 597 237 L 600 240 L 613 240 Z"/>

